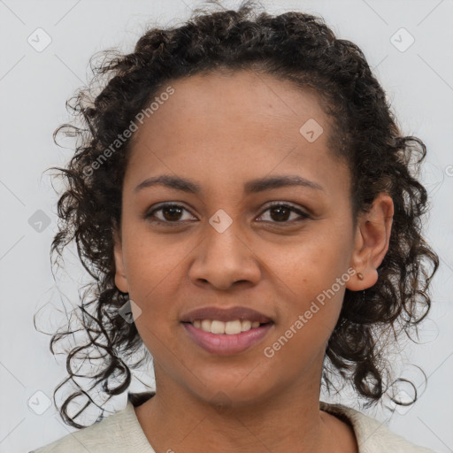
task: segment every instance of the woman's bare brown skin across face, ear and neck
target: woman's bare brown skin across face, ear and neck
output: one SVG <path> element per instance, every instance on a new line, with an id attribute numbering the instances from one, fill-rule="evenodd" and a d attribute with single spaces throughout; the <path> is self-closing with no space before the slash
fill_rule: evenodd
<path id="1" fill-rule="evenodd" d="M 339 318 L 345 288 L 378 279 L 388 250 L 393 203 L 380 194 L 357 220 L 350 174 L 327 146 L 331 119 L 308 90 L 250 71 L 211 73 L 173 81 L 175 93 L 134 134 L 115 232 L 116 285 L 128 292 L 135 324 L 154 357 L 157 394 L 135 408 L 157 452 L 354 452 L 351 427 L 319 411 L 326 343 Z M 324 133 L 308 142 L 308 120 Z M 155 186 L 151 176 L 196 180 L 198 195 Z M 273 188 L 245 195 L 243 184 L 264 176 L 299 175 L 323 190 Z M 187 211 L 145 218 L 174 202 Z M 269 202 L 293 204 L 281 221 Z M 209 219 L 222 209 L 233 223 L 219 233 Z M 180 220 L 180 226 L 169 225 Z M 280 220 L 280 221 L 279 221 Z M 286 223 L 285 223 L 286 222 Z M 265 357 L 311 302 L 348 269 L 357 274 L 275 355 Z M 262 342 L 234 356 L 199 348 L 180 324 L 204 306 L 242 305 L 273 319 Z M 137 309 L 140 308 L 140 311 Z M 218 411 L 219 391 L 226 409 Z"/>

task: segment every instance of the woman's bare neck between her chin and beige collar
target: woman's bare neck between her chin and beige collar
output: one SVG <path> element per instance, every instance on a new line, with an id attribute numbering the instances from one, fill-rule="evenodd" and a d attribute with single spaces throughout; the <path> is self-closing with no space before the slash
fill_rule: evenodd
<path id="1" fill-rule="evenodd" d="M 356 451 L 350 428 L 348 432 L 339 419 L 319 411 L 316 388 L 285 388 L 253 403 L 225 399 L 223 405 L 205 402 L 171 380 L 157 380 L 157 388 L 156 395 L 135 409 L 156 451 L 195 453 L 210 445 L 219 453 L 320 453 L 343 451 L 339 438 L 347 445 L 344 451 Z"/>

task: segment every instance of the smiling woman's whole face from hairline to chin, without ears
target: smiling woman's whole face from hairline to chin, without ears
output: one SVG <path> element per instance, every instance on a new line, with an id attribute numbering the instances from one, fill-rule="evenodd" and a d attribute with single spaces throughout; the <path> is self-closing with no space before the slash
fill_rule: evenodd
<path id="1" fill-rule="evenodd" d="M 311 384 L 316 393 L 362 245 L 349 170 L 327 149 L 330 119 L 317 96 L 272 76 L 215 73 L 171 87 L 134 135 L 115 246 L 116 284 L 136 304 L 157 387 L 205 401 L 221 391 L 237 404 Z M 163 175 L 169 185 L 150 183 Z M 164 202 L 177 206 L 159 210 Z M 237 307 L 271 322 L 246 331 L 250 313 L 222 311 Z M 189 319 L 203 308 L 221 312 Z M 244 332 L 206 333 L 195 319 L 238 319 L 203 328 Z"/>

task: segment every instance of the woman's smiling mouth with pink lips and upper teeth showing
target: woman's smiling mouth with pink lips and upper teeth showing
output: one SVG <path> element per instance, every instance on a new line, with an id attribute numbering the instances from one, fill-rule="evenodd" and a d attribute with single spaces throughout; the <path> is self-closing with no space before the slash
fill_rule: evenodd
<path id="1" fill-rule="evenodd" d="M 181 319 L 188 337 L 211 354 L 238 354 L 262 341 L 274 322 L 263 313 L 245 307 L 207 307 L 191 311 Z"/>

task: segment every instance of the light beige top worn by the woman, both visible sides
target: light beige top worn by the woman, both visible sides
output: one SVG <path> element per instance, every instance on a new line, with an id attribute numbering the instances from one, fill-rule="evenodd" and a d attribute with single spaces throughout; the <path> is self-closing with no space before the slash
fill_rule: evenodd
<path id="1" fill-rule="evenodd" d="M 343 406 L 319 402 L 321 411 L 349 420 L 357 438 L 359 453 L 434 453 L 394 434 L 380 421 Z M 170 450 L 171 451 L 171 450 Z M 65 435 L 29 453 L 156 453 L 143 433 L 134 405 L 127 401 L 124 410 L 94 425 Z"/>

